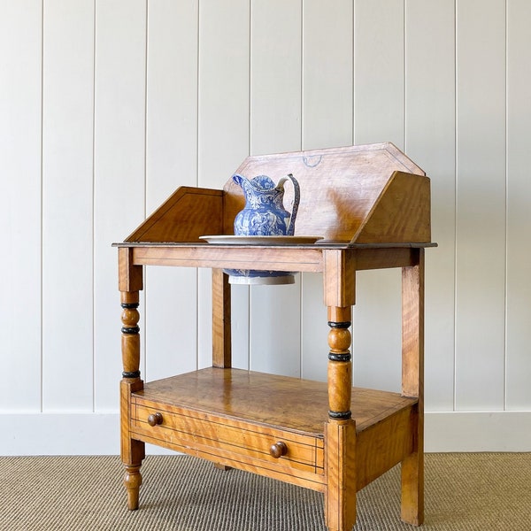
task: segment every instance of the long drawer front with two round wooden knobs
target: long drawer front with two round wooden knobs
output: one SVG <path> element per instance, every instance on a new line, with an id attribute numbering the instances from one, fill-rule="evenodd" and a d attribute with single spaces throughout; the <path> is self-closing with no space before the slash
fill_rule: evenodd
<path id="1" fill-rule="evenodd" d="M 131 405 L 131 430 L 141 439 L 150 439 L 148 442 L 155 440 L 185 451 L 208 449 L 212 456 L 232 456 L 250 463 L 258 460 L 268 468 L 290 466 L 323 473 L 323 440 L 319 437 L 157 404 L 135 396 Z"/>

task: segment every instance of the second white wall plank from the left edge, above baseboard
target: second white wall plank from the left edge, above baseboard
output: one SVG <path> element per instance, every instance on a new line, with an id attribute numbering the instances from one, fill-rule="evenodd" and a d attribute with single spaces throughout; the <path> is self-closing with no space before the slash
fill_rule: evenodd
<path id="1" fill-rule="evenodd" d="M 92 411 L 94 3 L 43 19 L 42 408 Z"/>

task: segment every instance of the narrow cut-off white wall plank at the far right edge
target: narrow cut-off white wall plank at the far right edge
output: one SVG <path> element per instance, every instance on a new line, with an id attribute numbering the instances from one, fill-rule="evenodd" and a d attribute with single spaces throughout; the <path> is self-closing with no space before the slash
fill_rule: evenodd
<path id="1" fill-rule="evenodd" d="M 511 0 L 507 65 L 507 381 L 506 407 L 531 407 L 531 4 Z"/>

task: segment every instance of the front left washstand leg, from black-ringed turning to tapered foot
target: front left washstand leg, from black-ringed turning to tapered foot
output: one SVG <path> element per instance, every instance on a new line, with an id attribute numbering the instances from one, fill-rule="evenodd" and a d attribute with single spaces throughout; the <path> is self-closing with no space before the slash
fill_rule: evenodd
<path id="1" fill-rule="evenodd" d="M 139 489 L 142 484 L 140 467 L 145 457 L 144 443 L 131 438 L 131 393 L 143 389 L 140 379 L 140 335 L 138 320 L 138 291 L 121 292 L 122 306 L 122 363 L 120 382 L 120 453 L 126 467 L 124 486 L 127 489 L 127 506 L 138 509 Z"/>

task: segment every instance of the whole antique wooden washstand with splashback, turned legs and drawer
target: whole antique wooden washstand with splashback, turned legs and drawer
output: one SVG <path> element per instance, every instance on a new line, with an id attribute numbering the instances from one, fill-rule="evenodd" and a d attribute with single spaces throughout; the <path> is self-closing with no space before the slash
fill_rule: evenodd
<path id="1" fill-rule="evenodd" d="M 181 187 L 119 251 L 122 307 L 121 458 L 129 509 L 139 506 L 144 443 L 324 493 L 330 531 L 350 531 L 356 493 L 402 464 L 401 517 L 423 519 L 424 248 L 430 242 L 425 173 L 390 143 L 246 158 L 236 170 L 301 187 L 296 235 L 312 244 L 202 241 L 232 235 L 244 204 L 223 189 Z M 230 177 L 230 176 L 229 176 Z M 289 190 L 286 191 L 289 202 Z M 212 367 L 144 383 L 139 290 L 145 266 L 212 268 Z M 402 269 L 402 392 L 352 388 L 356 272 Z M 329 332 L 327 383 L 231 367 L 231 286 L 224 269 L 322 273 Z M 221 494 L 222 496 L 222 494 Z"/>

